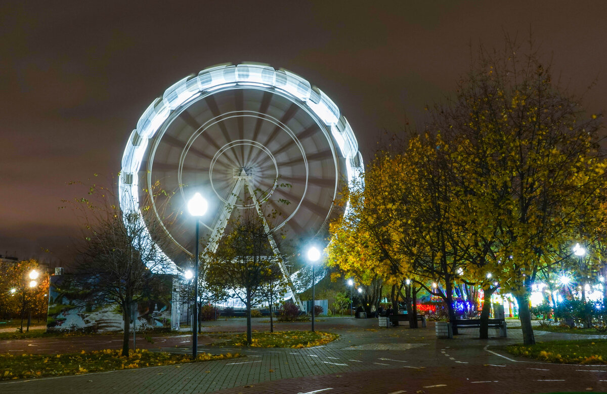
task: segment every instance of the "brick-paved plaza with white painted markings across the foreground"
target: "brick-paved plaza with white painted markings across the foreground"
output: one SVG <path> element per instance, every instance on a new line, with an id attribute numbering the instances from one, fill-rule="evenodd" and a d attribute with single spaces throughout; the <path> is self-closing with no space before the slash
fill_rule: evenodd
<path id="1" fill-rule="evenodd" d="M 21 379 L 0 382 L 2 393 L 547 393 L 607 392 L 607 365 L 557 365 L 515 358 L 498 349 L 520 343 L 520 328 L 508 338 L 478 339 L 478 329 L 463 330 L 455 339 L 436 339 L 427 328 L 379 328 L 377 319 L 325 318 L 317 330 L 340 335 L 330 344 L 305 349 L 217 348 L 200 337 L 200 351 L 240 352 L 245 358 L 137 370 Z M 267 330 L 267 319 L 255 319 L 254 329 Z M 516 322 L 512 322 L 516 324 Z M 205 331 L 244 331 L 244 319 L 205 322 Z M 304 330 L 309 323 L 278 323 L 277 330 Z M 498 337 L 498 333 L 489 331 Z M 537 341 L 585 339 L 536 331 Z M 189 336 L 139 345 L 189 353 Z M 81 348 L 120 347 L 120 337 L 42 338 L 0 342 L 0 351 L 26 348 L 67 352 L 69 342 Z M 205 340 L 206 339 L 206 340 Z M 45 342 L 47 341 L 47 342 Z M 53 342 L 54 341 L 54 342 Z M 63 343 L 63 345 L 61 345 Z M 30 351 L 31 352 L 31 351 Z M 40 352 L 40 350 L 38 350 Z M 16 353 L 16 352 L 15 352 Z"/>

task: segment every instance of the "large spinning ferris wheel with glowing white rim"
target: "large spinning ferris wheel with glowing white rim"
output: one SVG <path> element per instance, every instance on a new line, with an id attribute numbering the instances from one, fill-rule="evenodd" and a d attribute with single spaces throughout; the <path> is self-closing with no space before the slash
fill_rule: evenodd
<path id="1" fill-rule="evenodd" d="M 300 76 L 261 64 L 211 67 L 169 87 L 141 115 L 121 166 L 123 212 L 140 209 L 141 194 L 155 182 L 177 191 L 183 205 L 175 209 L 203 194 L 212 212 L 201 219 L 207 248 L 217 247 L 234 211 L 258 203 L 282 212 L 274 231 L 314 237 L 327 225 L 337 192 L 363 171 L 354 133 L 333 101 Z M 263 191 L 259 201 L 245 203 L 254 189 Z M 187 213 L 179 220 L 191 228 Z M 166 264 L 149 267 L 178 274 L 193 256 L 194 237 L 164 229 L 173 242 L 163 251 Z M 143 237 L 139 245 L 157 247 L 149 232 Z"/>

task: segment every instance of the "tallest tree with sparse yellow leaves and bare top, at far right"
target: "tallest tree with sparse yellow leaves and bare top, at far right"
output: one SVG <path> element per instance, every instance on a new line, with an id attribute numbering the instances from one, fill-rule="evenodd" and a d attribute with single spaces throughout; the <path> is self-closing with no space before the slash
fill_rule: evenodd
<path id="1" fill-rule="evenodd" d="M 495 241 L 483 270 L 514 294 L 523 341 L 533 344 L 529 295 L 538 274 L 560 262 L 578 228 L 600 222 L 599 119 L 552 83 L 533 49 L 512 42 L 501 53 L 481 49 L 455 100 L 435 115 L 472 197 L 463 215 L 475 229 L 470 243 Z"/>

